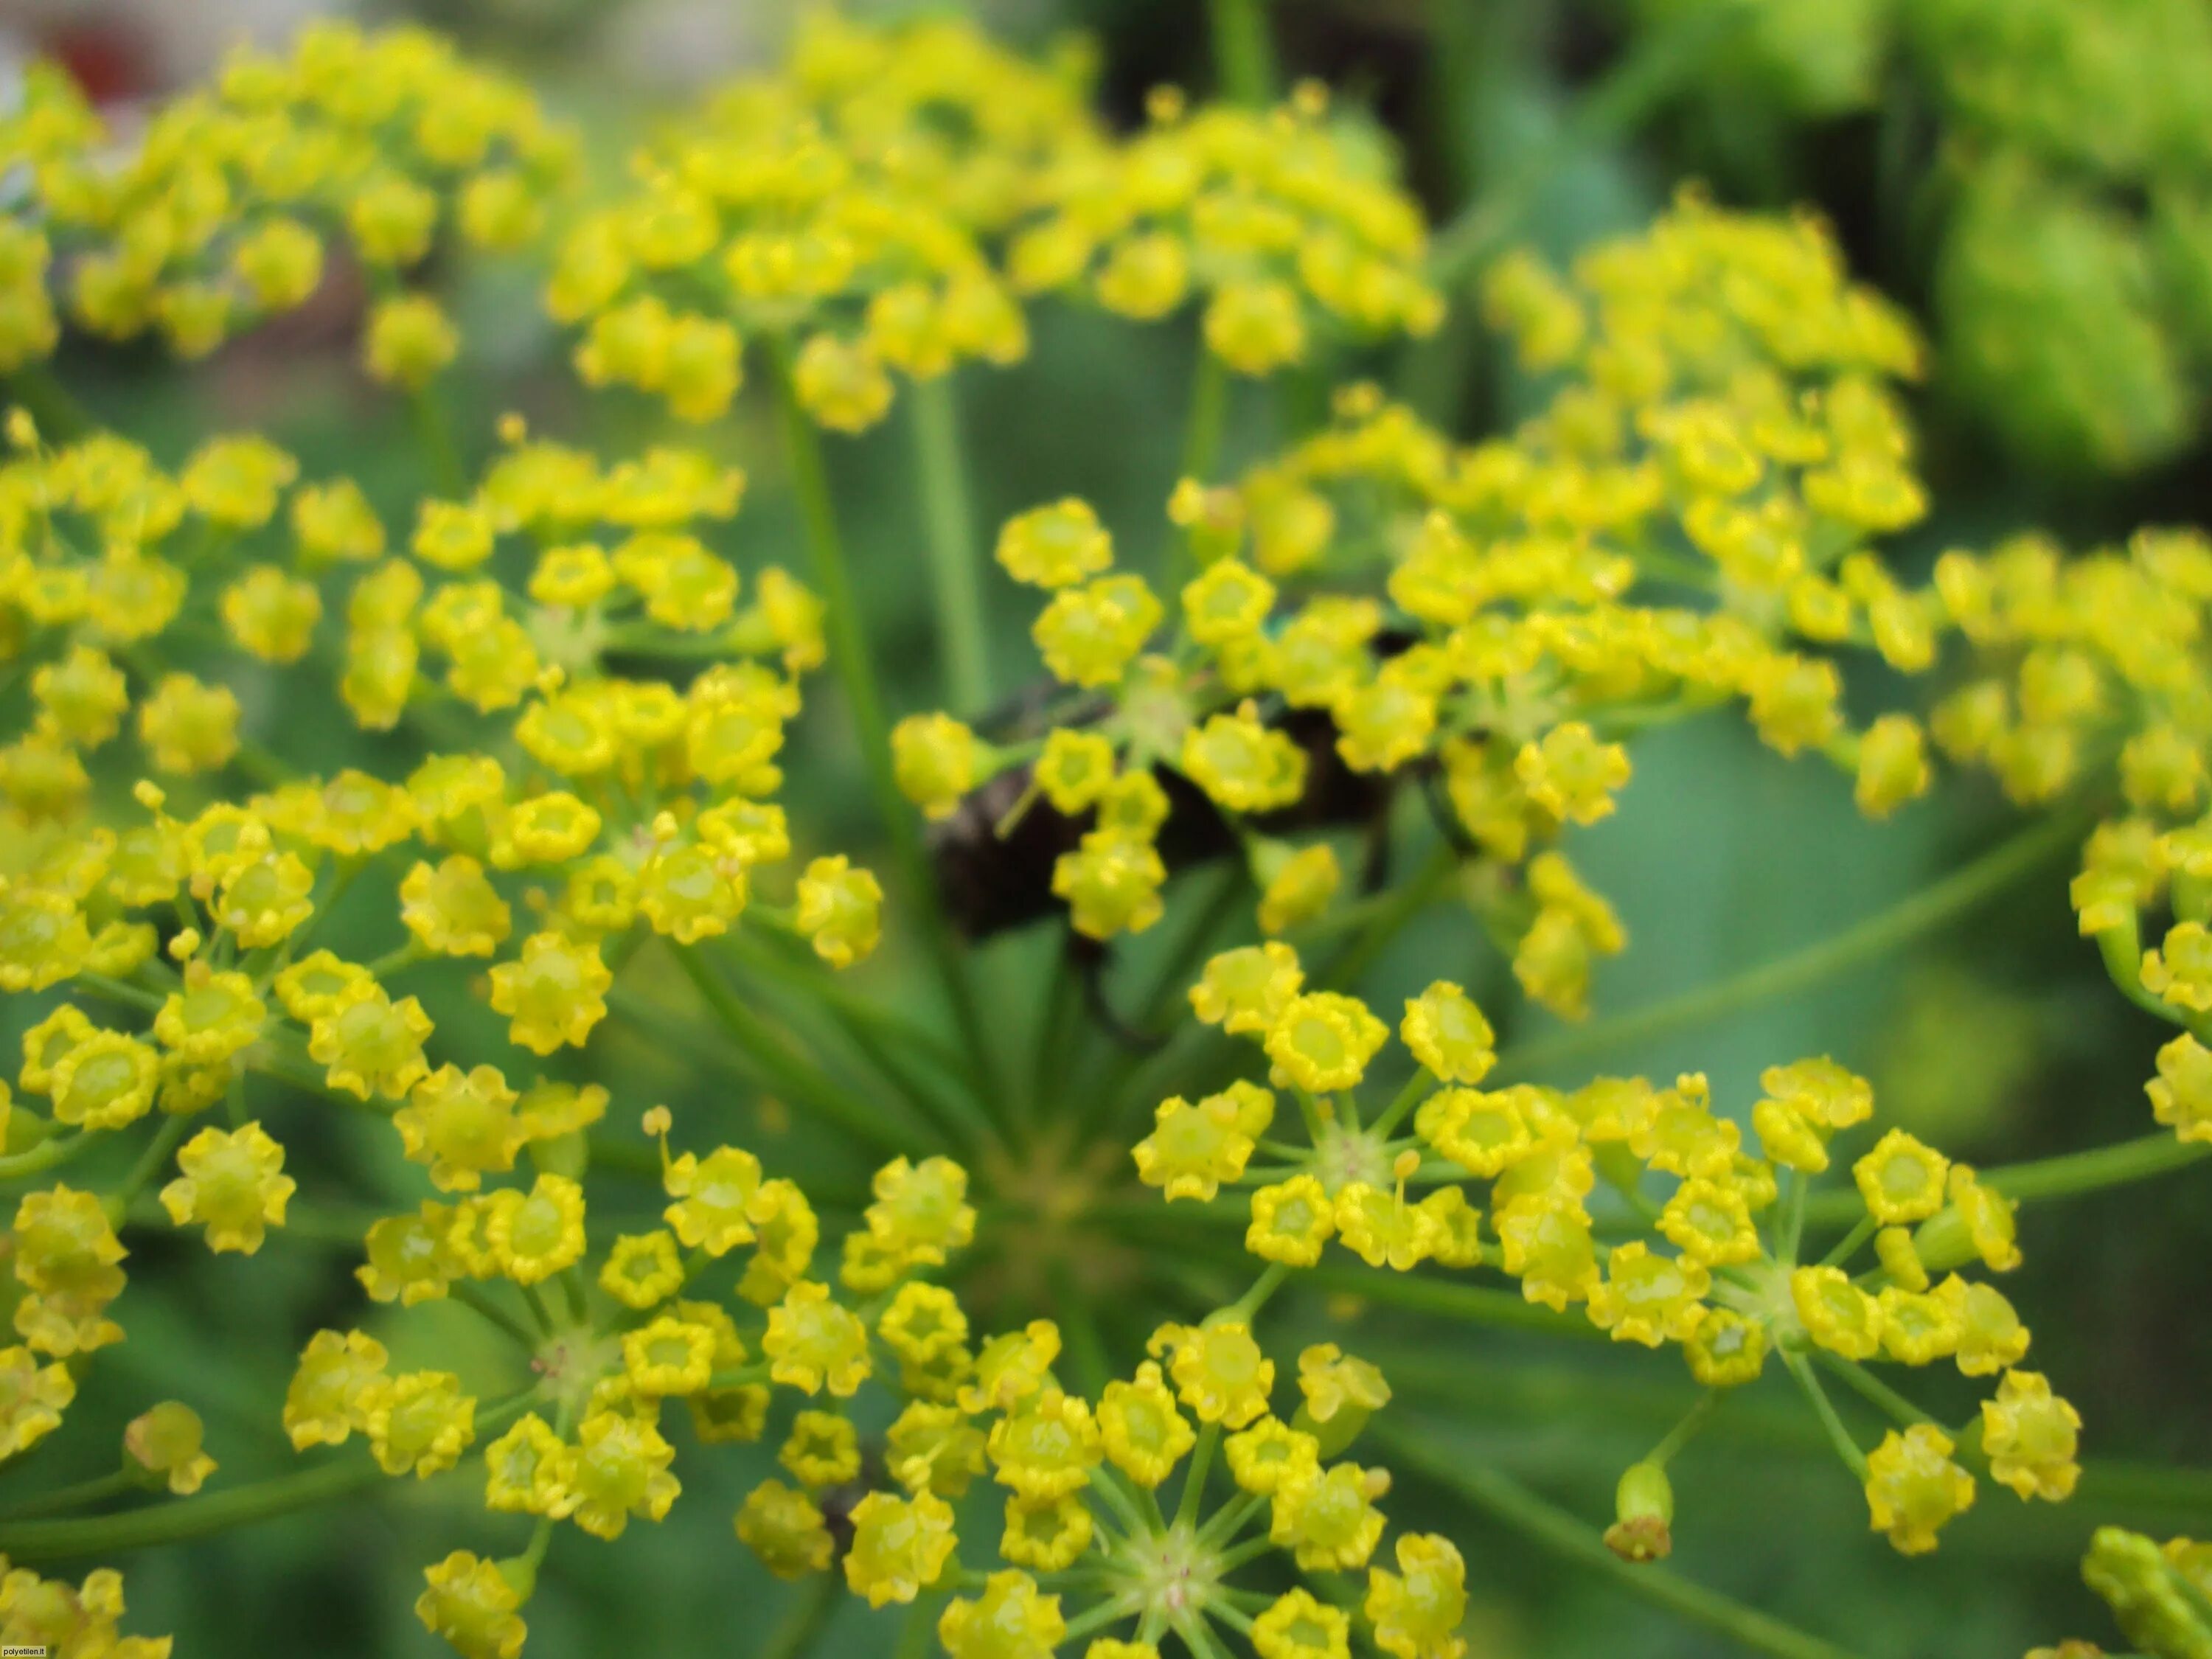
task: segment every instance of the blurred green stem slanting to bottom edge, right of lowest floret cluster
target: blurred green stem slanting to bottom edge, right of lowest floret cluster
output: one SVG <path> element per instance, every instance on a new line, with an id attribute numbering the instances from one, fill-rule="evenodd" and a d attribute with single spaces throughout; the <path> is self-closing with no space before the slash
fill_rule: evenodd
<path id="1" fill-rule="evenodd" d="M 1537 1498 L 1511 1475 L 1480 1469 L 1464 1458 L 1438 1449 L 1433 1436 L 1409 1425 L 1374 1422 L 1376 1436 L 1391 1462 L 1418 1473 L 1429 1484 L 1462 1498 L 1491 1520 L 1544 1548 L 1590 1568 L 1628 1595 L 1644 1597 L 1690 1624 L 1728 1637 L 1745 1652 L 1772 1659 L 1851 1659 L 1847 1648 L 1796 1630 L 1756 1608 L 1728 1599 L 1719 1590 L 1677 1577 L 1650 1562 L 1630 1564 L 1606 1548 L 1593 1526 L 1584 1526 L 1564 1509 Z"/>

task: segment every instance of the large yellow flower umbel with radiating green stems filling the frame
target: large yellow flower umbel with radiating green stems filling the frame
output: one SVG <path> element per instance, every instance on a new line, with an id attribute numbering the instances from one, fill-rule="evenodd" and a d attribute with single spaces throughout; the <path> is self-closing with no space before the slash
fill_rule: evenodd
<path id="1" fill-rule="evenodd" d="M 628 166 L 584 166 L 531 86 L 422 29 L 307 27 L 133 122 L 24 73 L 0 1646 L 168 1652 L 119 1632 L 113 1571 L 22 1562 L 453 1471 L 458 1535 L 405 1566 L 469 1659 L 518 1659 L 553 1575 L 628 1582 L 584 1553 L 637 1562 L 717 1502 L 719 1548 L 790 1584 L 794 1652 L 849 1595 L 953 1659 L 1460 1659 L 1498 1597 L 1469 1511 L 1781 1650 L 1774 1615 L 1661 1566 L 1721 1491 L 1674 1455 L 1736 1433 L 1754 1385 L 1898 1555 L 1984 1475 L 2115 1489 L 2099 1396 L 2042 1336 L 2055 1281 L 2011 1274 L 2066 1250 L 2046 1199 L 2212 1146 L 2212 540 L 1973 544 L 1909 416 L 1944 365 L 1814 212 L 1686 188 L 1553 263 L 1495 239 L 1548 195 L 1531 173 L 1431 228 L 1400 181 L 1429 190 L 1425 157 L 1318 84 L 1276 102 L 1265 7 L 1221 22 L 1223 97 L 1155 88 L 1113 124 L 1082 42 L 810 11 Z M 1745 29 L 1690 53 L 1697 86 L 1781 46 Z M 1951 119 L 2031 84 L 1929 95 Z M 2053 153 L 2106 179 L 2154 153 L 2166 204 L 2172 135 L 2203 126 L 2168 93 L 2146 80 L 2148 126 L 2095 104 L 2128 166 L 2070 128 Z M 292 387 L 325 319 L 411 438 L 248 396 Z M 268 431 L 179 434 L 117 389 L 144 372 L 117 343 L 199 358 L 263 325 L 223 407 Z M 1161 354 L 1115 343 L 1161 330 L 1192 376 L 1172 473 L 1106 476 L 1148 465 L 1130 442 L 1082 480 L 1051 445 L 967 478 L 962 389 L 1033 327 L 995 396 L 1033 398 L 1084 330 L 1135 378 Z M 1478 327 L 1513 358 L 1480 407 L 1509 414 L 1464 434 L 1442 376 Z M 522 363 L 546 343 L 560 385 Z M 1407 349 L 1402 392 L 1349 378 Z M 95 361 L 97 416 L 64 383 Z M 542 429 L 482 422 L 524 367 Z M 1117 387 L 1084 409 L 1119 418 Z M 847 442 L 894 416 L 911 465 Z M 969 522 L 971 482 L 1002 522 Z M 883 672 L 925 586 L 942 695 Z M 1009 604 L 1024 635 L 998 639 Z M 1648 743 L 1692 719 L 1741 752 Z M 1803 818 L 1745 794 L 1792 770 L 1818 774 Z M 1699 836 L 1639 816 L 1670 792 L 1856 869 L 1818 812 L 1891 834 L 1966 790 L 2026 827 L 1615 1020 L 1630 922 L 1694 931 Z M 1918 973 L 1942 1066 L 1823 1031 L 1880 1088 L 1728 1044 L 1710 1071 L 1586 1064 L 1708 1044 L 1699 1020 L 2062 843 L 2081 949 L 2163 1026 L 2141 1139 L 2008 1159 L 2017 1044 Z M 1681 902 L 1635 889 L 1677 865 Z M 1714 927 L 1681 960 L 1741 931 Z M 241 1473 L 268 1462 L 252 1411 L 144 1398 L 217 1374 L 177 1316 L 201 1292 L 268 1298 L 221 1321 L 223 1363 L 248 1402 L 274 1367 L 259 1429 L 296 1471 Z M 294 1316 L 312 1336 L 261 1352 Z M 1524 1385 L 1517 1349 L 1462 1340 L 1489 1325 L 1615 1343 L 1619 1376 Z M 1528 1455 L 1617 1444 L 1646 1383 L 1683 1411 L 1606 1471 L 1610 1517 L 1458 1436 L 1480 1394 L 1540 1402 L 1500 1418 Z M 128 1425 L 93 1447 L 108 1473 L 38 1489 L 95 1467 L 71 1444 L 100 1422 Z M 1801 1451 L 1759 1431 L 1759 1458 Z M 2086 1579 L 2128 1641 L 2194 1659 L 2203 1544 L 2104 1528 Z"/>

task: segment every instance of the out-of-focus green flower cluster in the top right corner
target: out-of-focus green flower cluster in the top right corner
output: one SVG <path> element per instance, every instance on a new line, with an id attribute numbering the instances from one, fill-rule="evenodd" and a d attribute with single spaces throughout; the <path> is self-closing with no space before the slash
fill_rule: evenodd
<path id="1" fill-rule="evenodd" d="M 1944 378 L 2020 456 L 2137 471 L 2203 434 L 2212 18 L 2197 0 L 1637 11 L 1655 53 L 1690 42 L 1708 73 L 1686 95 L 1732 119 L 1880 108 L 1891 142 L 1933 150 L 1927 184 L 1887 210 L 1936 226 Z"/>

